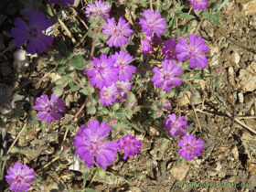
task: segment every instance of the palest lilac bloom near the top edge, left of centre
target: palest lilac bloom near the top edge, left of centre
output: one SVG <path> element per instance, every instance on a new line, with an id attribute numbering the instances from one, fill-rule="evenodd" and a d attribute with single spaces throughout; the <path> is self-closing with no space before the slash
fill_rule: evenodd
<path id="1" fill-rule="evenodd" d="M 90 13 L 95 13 L 101 16 L 103 19 L 110 17 L 108 14 L 111 11 L 112 7 L 105 2 L 95 1 L 95 4 L 89 4 L 85 9 L 86 17 L 90 16 Z"/>

